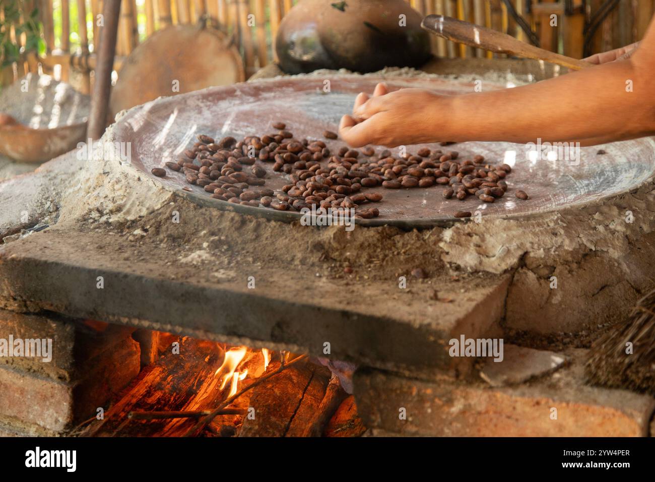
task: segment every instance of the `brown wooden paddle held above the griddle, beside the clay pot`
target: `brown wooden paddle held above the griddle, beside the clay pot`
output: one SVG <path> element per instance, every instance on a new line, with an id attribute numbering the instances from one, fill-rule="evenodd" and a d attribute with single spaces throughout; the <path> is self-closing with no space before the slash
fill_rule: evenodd
<path id="1" fill-rule="evenodd" d="M 457 18 L 443 15 L 428 15 L 421 22 L 421 27 L 444 39 L 463 43 L 478 49 L 490 50 L 501 54 L 517 55 L 519 57 L 545 60 L 572 70 L 580 70 L 593 66 L 585 60 L 555 54 L 548 50 L 534 47 L 521 42 L 511 35 L 476 24 L 470 24 Z"/>

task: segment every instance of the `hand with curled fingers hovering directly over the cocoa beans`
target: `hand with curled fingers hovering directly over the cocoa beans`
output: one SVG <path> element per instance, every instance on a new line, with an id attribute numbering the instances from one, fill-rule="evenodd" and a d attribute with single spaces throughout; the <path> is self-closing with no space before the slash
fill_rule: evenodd
<path id="1" fill-rule="evenodd" d="M 339 134 L 352 147 L 436 142 L 436 121 L 446 100 L 425 89 L 389 92 L 384 83 L 379 83 L 371 98 L 364 92 L 357 96 L 352 115 L 341 118 Z"/>

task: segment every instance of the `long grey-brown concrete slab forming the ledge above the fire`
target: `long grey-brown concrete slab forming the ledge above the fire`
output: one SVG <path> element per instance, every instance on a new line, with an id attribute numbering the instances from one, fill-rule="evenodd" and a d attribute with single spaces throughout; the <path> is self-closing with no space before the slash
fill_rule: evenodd
<path id="1" fill-rule="evenodd" d="M 126 245 L 97 228 L 32 233 L 0 247 L 1 302 L 398 371 L 464 372 L 470 359 L 449 357 L 448 340 L 497 330 L 509 284 L 508 275 L 476 277 L 463 290 L 437 277 L 408 279 L 402 289 L 383 278 L 360 288 L 330 264 L 295 270 L 246 256 L 193 264 L 176 251 L 147 239 Z"/>

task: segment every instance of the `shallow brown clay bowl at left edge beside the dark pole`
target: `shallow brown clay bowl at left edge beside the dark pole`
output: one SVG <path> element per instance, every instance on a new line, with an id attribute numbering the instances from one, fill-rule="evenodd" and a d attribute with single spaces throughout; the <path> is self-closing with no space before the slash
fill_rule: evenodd
<path id="1" fill-rule="evenodd" d="M 23 163 L 42 163 L 73 150 L 85 136 L 85 122 L 53 129 L 3 125 L 0 126 L 0 153 Z"/>

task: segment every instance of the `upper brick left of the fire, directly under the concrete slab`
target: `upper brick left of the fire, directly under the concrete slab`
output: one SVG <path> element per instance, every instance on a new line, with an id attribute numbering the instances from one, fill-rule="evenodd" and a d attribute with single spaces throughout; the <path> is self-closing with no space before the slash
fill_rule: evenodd
<path id="1" fill-rule="evenodd" d="M 12 367 L 69 381 L 83 374 L 76 374 L 77 367 L 120 343 L 134 329 L 121 325 L 99 324 L 97 329 L 54 313 L 48 315 L 15 313 L 0 310 L 0 338 L 50 338 L 52 361 L 43 362 L 33 357 L 0 357 L 0 367 Z"/>

